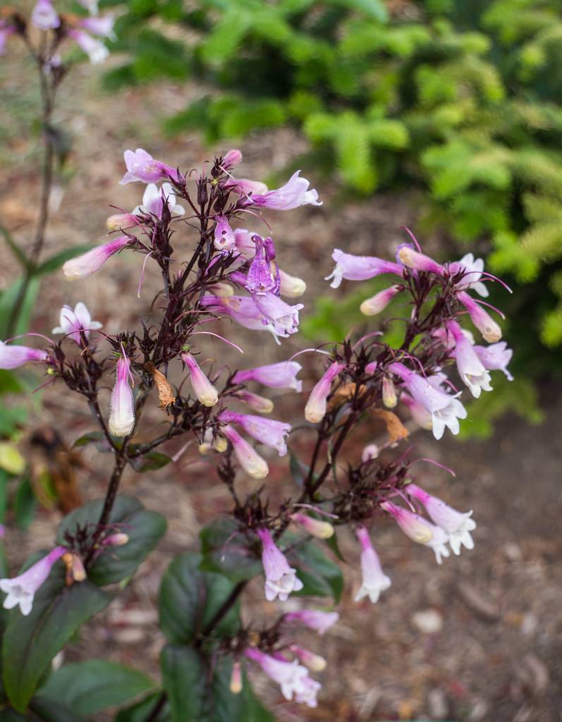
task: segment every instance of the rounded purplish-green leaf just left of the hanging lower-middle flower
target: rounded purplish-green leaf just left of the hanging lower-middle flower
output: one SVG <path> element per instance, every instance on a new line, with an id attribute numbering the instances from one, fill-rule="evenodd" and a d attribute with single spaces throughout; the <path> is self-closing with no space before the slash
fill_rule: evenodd
<path id="1" fill-rule="evenodd" d="M 224 574 L 233 582 L 255 577 L 261 572 L 259 549 L 253 552 L 248 539 L 232 519 L 215 519 L 199 535 L 203 561 L 201 568 Z"/>

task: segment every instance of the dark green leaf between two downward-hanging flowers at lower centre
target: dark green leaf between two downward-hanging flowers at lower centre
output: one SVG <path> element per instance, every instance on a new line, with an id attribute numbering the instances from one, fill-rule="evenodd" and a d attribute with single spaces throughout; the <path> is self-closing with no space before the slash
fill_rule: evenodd
<path id="1" fill-rule="evenodd" d="M 285 534 L 283 539 L 295 541 L 295 535 Z M 343 577 L 340 567 L 329 560 L 324 552 L 312 541 L 296 542 L 286 552 L 288 560 L 297 570 L 304 588 L 298 592 L 306 596 L 332 596 L 339 601 L 343 591 Z"/>

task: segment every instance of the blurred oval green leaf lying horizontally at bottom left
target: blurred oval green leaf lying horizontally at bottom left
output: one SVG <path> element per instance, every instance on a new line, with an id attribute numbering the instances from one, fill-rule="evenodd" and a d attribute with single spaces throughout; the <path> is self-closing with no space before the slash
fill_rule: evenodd
<path id="1" fill-rule="evenodd" d="M 66 664 L 51 674 L 40 695 L 82 715 L 120 707 L 155 690 L 155 682 L 142 672 L 117 662 L 90 659 Z"/>

